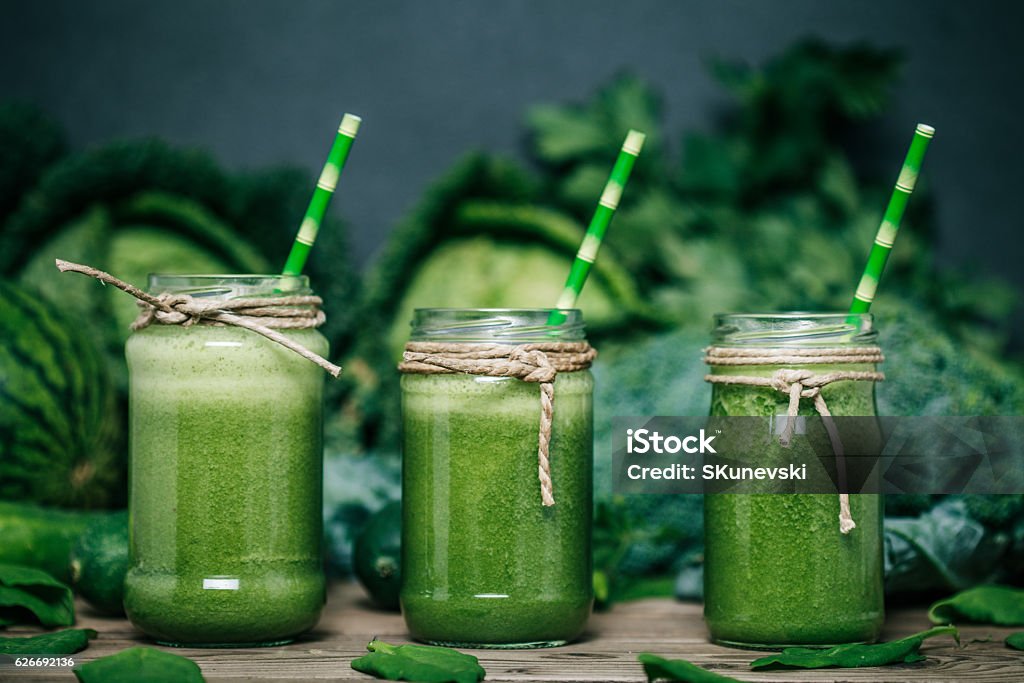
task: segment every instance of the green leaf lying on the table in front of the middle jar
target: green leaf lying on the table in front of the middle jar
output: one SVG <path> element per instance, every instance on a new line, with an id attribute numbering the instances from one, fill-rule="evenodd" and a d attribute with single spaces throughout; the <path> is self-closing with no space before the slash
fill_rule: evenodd
<path id="1" fill-rule="evenodd" d="M 478 683 L 486 676 L 476 657 L 450 647 L 391 645 L 372 640 L 367 649 L 370 654 L 353 659 L 352 669 L 389 681 Z"/>

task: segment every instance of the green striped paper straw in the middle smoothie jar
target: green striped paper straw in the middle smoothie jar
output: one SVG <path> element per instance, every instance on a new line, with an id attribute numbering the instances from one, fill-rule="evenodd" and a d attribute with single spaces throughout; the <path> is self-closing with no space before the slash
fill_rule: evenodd
<path id="1" fill-rule="evenodd" d="M 615 215 L 618 208 L 618 200 L 623 197 L 626 182 L 630 179 L 630 172 L 633 164 L 636 163 L 640 150 L 643 148 L 643 141 L 646 135 L 637 130 L 631 130 L 626 134 L 626 141 L 615 159 L 615 165 L 608 176 L 608 182 L 604 185 L 601 199 L 597 204 L 594 217 L 590 220 L 587 233 L 583 238 L 580 250 L 577 252 L 575 260 L 572 261 L 572 268 L 569 276 L 565 281 L 565 289 L 562 290 L 558 302 L 555 304 L 557 310 L 551 311 L 548 317 L 548 325 L 559 325 L 565 321 L 565 314 L 561 311 L 575 306 L 580 292 L 583 290 L 587 275 L 590 274 L 590 267 L 597 258 L 597 252 L 601 248 L 601 240 L 604 239 L 604 231 L 608 229 L 611 217 Z"/>

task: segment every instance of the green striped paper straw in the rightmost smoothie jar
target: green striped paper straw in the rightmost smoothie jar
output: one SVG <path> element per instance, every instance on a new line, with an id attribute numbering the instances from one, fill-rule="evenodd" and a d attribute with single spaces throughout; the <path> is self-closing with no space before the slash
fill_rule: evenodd
<path id="1" fill-rule="evenodd" d="M 850 304 L 851 313 L 866 313 L 871 307 L 874 293 L 879 288 L 879 280 L 882 279 L 889 253 L 896 242 L 896 232 L 899 231 L 899 222 L 906 210 L 906 203 L 910 200 L 910 193 L 918 182 L 918 173 L 925 159 L 925 151 L 928 150 L 928 143 L 934 135 L 935 129 L 923 123 L 919 123 L 913 131 L 913 140 L 910 141 L 910 148 L 906 153 L 906 159 L 903 160 L 899 179 L 896 180 L 889 206 L 886 207 L 882 224 L 879 225 L 879 233 L 874 236 L 871 253 L 867 256 L 864 274 L 860 276 L 860 284 L 857 285 L 857 291 L 853 295 L 853 302 Z"/>

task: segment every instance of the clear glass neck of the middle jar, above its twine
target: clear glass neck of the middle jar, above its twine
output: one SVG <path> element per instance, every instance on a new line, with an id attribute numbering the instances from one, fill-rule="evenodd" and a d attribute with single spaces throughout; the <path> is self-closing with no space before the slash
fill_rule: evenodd
<path id="1" fill-rule="evenodd" d="M 417 308 L 411 325 L 413 341 L 525 344 L 587 338 L 577 308 Z"/>

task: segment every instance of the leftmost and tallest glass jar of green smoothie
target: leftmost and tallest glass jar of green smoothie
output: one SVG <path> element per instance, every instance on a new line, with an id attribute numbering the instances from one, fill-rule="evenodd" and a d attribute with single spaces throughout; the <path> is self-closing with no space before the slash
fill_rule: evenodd
<path id="1" fill-rule="evenodd" d="M 151 275 L 203 301 L 310 294 L 304 276 Z M 314 329 L 280 330 L 326 355 Z M 125 610 L 170 645 L 273 645 L 325 601 L 324 371 L 255 332 L 151 325 L 126 345 Z"/>

